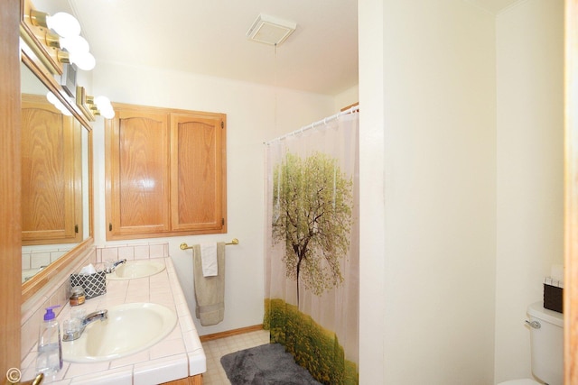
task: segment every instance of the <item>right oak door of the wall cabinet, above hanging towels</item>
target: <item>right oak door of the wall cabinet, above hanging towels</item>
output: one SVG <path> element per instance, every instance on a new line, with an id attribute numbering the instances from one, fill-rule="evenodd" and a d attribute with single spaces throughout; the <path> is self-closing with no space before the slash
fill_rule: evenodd
<path id="1" fill-rule="evenodd" d="M 172 230 L 225 233 L 224 115 L 171 115 Z"/>

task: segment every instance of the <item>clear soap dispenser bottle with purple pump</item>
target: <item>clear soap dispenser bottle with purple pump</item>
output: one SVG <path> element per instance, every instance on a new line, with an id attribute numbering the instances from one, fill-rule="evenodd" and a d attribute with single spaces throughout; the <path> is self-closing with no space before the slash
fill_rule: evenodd
<path id="1" fill-rule="evenodd" d="M 38 338 L 38 356 L 36 371 L 54 374 L 62 369 L 61 327 L 52 311 L 55 307 L 46 307 L 44 322 L 40 325 Z"/>

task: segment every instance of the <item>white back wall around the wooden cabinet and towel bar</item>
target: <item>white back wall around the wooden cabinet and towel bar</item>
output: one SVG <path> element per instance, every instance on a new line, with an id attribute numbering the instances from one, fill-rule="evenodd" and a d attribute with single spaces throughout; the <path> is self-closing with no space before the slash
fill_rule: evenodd
<path id="1" fill-rule="evenodd" d="M 191 251 L 183 252 L 179 244 L 238 238 L 237 246 L 227 248 L 225 319 L 219 325 L 207 327 L 197 322 L 196 327 L 200 335 L 208 335 L 261 324 L 264 297 L 263 142 L 335 114 L 333 97 L 103 62 L 98 62 L 94 69 L 94 85 L 95 95 L 106 95 L 113 102 L 227 114 L 228 234 L 144 242 L 162 240 L 170 243 L 172 260 L 194 315 Z M 102 119 L 98 118 L 94 133 L 96 244 L 142 243 L 142 240 L 106 242 L 102 128 Z"/>

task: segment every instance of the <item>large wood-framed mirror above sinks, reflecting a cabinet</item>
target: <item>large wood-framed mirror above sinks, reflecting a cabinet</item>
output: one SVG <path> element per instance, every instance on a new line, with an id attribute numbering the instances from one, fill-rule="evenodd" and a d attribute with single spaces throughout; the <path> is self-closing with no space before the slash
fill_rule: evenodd
<path id="1" fill-rule="evenodd" d="M 22 2 L 24 13 L 28 5 Z M 46 68 L 44 49 L 24 24 L 23 17 L 23 301 L 70 270 L 93 243 L 91 125 L 60 86 L 61 75 Z"/>

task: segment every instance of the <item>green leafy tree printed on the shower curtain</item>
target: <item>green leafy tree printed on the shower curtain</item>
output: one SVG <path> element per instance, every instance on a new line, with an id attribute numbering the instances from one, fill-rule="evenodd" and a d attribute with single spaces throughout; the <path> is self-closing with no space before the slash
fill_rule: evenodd
<path id="1" fill-rule="evenodd" d="M 273 242 L 284 243 L 286 276 L 319 296 L 343 281 L 340 259 L 350 246 L 351 188 L 337 160 L 290 152 L 273 175 Z"/>

